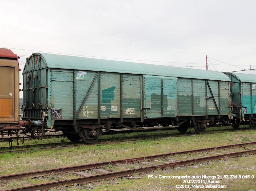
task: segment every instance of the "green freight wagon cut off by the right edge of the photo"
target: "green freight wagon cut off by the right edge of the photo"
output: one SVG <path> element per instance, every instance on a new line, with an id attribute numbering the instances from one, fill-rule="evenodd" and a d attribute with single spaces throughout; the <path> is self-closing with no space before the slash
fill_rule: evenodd
<path id="1" fill-rule="evenodd" d="M 231 111 L 233 127 L 248 124 L 256 129 L 256 76 L 225 72 L 231 79 Z"/>

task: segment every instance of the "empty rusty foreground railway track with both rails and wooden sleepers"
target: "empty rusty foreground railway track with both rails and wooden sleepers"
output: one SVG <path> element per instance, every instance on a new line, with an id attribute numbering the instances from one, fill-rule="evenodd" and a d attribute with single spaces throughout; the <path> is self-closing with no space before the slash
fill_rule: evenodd
<path id="1" fill-rule="evenodd" d="M 249 143 L 240 143 L 240 144 L 232 144 L 232 145 L 224 145 L 218 147 L 211 147 L 211 148 L 203 148 L 203 149 L 196 149 L 196 150 L 188 150 L 188 151 L 180 151 L 180 152 L 172 152 L 172 153 L 164 153 L 158 155 L 151 155 L 151 156 L 142 156 L 137 158 L 129 158 L 129 159 L 121 159 L 121 160 L 114 160 L 114 161 L 107 161 L 107 162 L 100 162 L 100 163 L 93 163 L 93 164 L 86 164 L 86 165 L 78 165 L 78 166 L 69 166 L 69 167 L 61 167 L 55 169 L 48 169 L 48 170 L 41 170 L 35 172 L 28 172 L 28 173 L 19 173 L 19 174 L 10 174 L 5 176 L 0 176 L 0 186 L 3 182 L 6 181 L 18 181 L 25 178 L 38 178 L 38 177 L 47 177 L 47 176 L 56 176 L 62 177 L 65 173 L 73 173 L 76 175 L 80 175 L 81 177 L 75 179 L 68 179 L 68 180 L 60 180 L 54 182 L 48 182 L 44 184 L 38 185 L 30 185 L 25 187 L 19 188 L 12 188 L 5 191 L 33 191 L 33 190 L 42 190 L 42 189 L 49 189 L 52 187 L 67 187 L 74 184 L 85 184 L 88 182 L 94 182 L 99 180 L 109 180 L 116 177 L 130 177 L 133 174 L 141 174 L 141 173 L 150 173 L 157 169 L 165 169 L 165 168 L 172 168 L 177 166 L 188 166 L 193 165 L 195 163 L 202 163 L 207 161 L 213 160 L 226 160 L 228 157 L 239 157 L 244 155 L 255 154 L 256 149 L 248 148 L 246 146 L 256 145 L 256 142 L 249 142 Z M 237 151 L 239 148 L 243 149 L 243 151 Z M 232 152 L 228 153 L 214 153 L 212 151 L 216 150 L 230 150 Z M 236 149 L 236 152 L 234 152 Z M 198 153 L 202 153 L 204 155 L 210 156 L 203 156 L 198 155 Z M 184 154 L 191 154 L 192 158 L 187 160 L 177 160 L 173 157 L 177 155 L 184 155 Z M 217 155 L 216 155 L 217 154 Z M 203 156 L 198 158 L 198 156 Z M 108 166 L 111 166 L 112 170 L 106 170 Z M 125 165 L 125 167 L 123 166 Z M 130 167 L 130 168 L 129 168 Z M 133 167 L 133 169 L 131 168 Z M 134 168 L 135 167 L 135 168 Z M 104 169 L 102 169 L 104 168 Z M 115 170 L 113 170 L 115 169 Z M 97 174 L 88 173 L 96 172 Z M 60 175 L 60 176 L 59 176 Z M 63 177 L 65 179 L 65 177 Z M 18 182 L 17 182 L 18 183 Z"/>

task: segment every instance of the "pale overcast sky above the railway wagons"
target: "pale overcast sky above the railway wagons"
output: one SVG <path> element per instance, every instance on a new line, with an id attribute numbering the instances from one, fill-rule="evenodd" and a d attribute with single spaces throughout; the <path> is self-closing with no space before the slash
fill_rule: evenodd
<path id="1" fill-rule="evenodd" d="M 0 47 L 19 55 L 22 69 L 33 52 L 202 70 L 207 55 L 208 70 L 256 68 L 255 0 L 0 3 Z"/>

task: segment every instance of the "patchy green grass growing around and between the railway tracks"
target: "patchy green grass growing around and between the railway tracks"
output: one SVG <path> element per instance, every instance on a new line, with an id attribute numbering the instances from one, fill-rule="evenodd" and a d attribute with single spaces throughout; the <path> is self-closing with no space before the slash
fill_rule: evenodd
<path id="1" fill-rule="evenodd" d="M 222 129 L 227 129 L 227 127 L 221 127 Z M 221 128 L 216 128 L 220 129 Z M 231 129 L 233 129 L 231 127 Z M 191 129 L 192 130 L 192 129 Z M 193 130 L 192 130 L 193 131 Z M 147 134 L 165 134 L 167 132 L 172 131 L 156 131 L 156 132 L 146 132 Z M 141 132 L 145 134 L 145 132 Z M 135 134 L 140 134 L 139 132 L 135 132 Z M 117 137 L 120 136 L 130 136 L 125 134 L 115 135 Z M 132 134 L 133 135 L 133 134 Z M 103 162 L 110 160 L 117 160 L 123 158 L 132 158 L 132 157 L 140 157 L 154 154 L 163 154 L 168 152 L 175 151 L 185 151 L 190 149 L 198 149 L 205 147 L 213 147 L 220 146 L 226 144 L 235 144 L 235 143 L 243 143 L 243 142 L 252 142 L 256 141 L 256 131 L 238 131 L 238 132 L 225 132 L 218 134 L 208 134 L 208 135 L 191 135 L 185 137 L 167 137 L 162 139 L 155 140 L 137 140 L 135 142 L 123 142 L 123 143 L 113 143 L 113 144 L 100 144 L 100 145 L 80 145 L 74 148 L 58 148 L 58 149 L 49 149 L 38 151 L 36 148 L 28 151 L 26 153 L 5 153 L 0 155 L 1 160 L 1 168 L 0 175 L 12 174 L 12 173 L 22 173 L 27 171 L 35 171 L 35 170 L 43 170 L 43 169 L 51 169 L 61 166 L 71 166 L 71 165 L 81 165 L 88 164 L 94 162 Z M 113 135 L 109 135 L 113 136 Z M 106 137 L 109 137 L 106 136 Z M 102 138 L 105 138 L 102 136 Z M 44 139 L 42 141 L 38 141 L 37 143 L 47 143 L 47 142 L 60 142 L 60 139 L 66 138 L 53 138 Z M 29 144 L 34 143 L 31 140 Z M 26 142 L 25 142 L 26 143 Z M 219 152 L 219 151 L 218 151 Z M 202 154 L 201 155 L 206 155 Z M 189 155 L 185 155 L 189 157 Z M 183 159 L 183 156 L 176 155 L 174 158 Z M 152 172 L 151 174 L 158 175 L 176 175 L 176 176 L 195 176 L 206 174 L 208 176 L 212 175 L 254 175 L 256 177 L 256 167 L 255 167 L 256 156 L 244 156 L 241 158 L 228 158 L 224 163 L 220 163 L 218 161 L 204 163 L 204 166 L 201 168 L 191 168 L 191 167 L 180 167 L 174 169 L 166 169 L 164 171 L 157 170 Z M 228 162 L 228 163 L 226 163 Z M 201 165 L 201 164 L 197 164 Z M 128 165 L 124 165 L 124 167 L 131 168 Z M 106 167 L 106 170 L 112 169 L 113 171 L 117 170 L 113 166 L 109 165 Z M 90 173 L 88 171 L 88 173 Z M 142 179 L 138 180 L 127 180 L 116 179 L 119 184 L 108 184 L 106 181 L 91 183 L 91 186 L 96 187 L 93 191 L 98 190 L 182 190 L 176 189 L 176 184 L 182 184 L 182 180 L 176 179 L 148 179 L 148 174 L 139 175 L 142 176 Z M 77 177 L 73 174 L 65 175 L 65 178 L 68 177 Z M 28 181 L 30 183 L 37 183 L 40 181 L 54 181 L 56 178 L 54 176 L 48 177 L 45 180 L 39 179 L 28 179 L 24 181 Z M 0 182 L 0 187 L 1 187 Z M 16 183 L 11 183 L 16 184 Z M 226 190 L 256 190 L 256 181 L 254 179 L 241 179 L 241 180 L 221 180 L 220 185 L 227 184 Z M 10 185 L 11 187 L 12 185 Z M 84 186 L 75 186 L 65 188 L 67 191 L 71 190 L 84 190 L 89 189 Z M 54 188 L 52 191 L 63 190 L 62 188 Z M 193 190 L 193 189 L 191 189 Z M 198 189 L 194 189 L 198 190 Z M 202 190 L 205 190 L 202 189 Z M 208 189 L 206 189 L 208 190 Z M 211 189 L 214 190 L 214 189 Z M 217 189 L 215 189 L 217 190 Z M 221 190 L 221 189 L 220 189 Z"/>

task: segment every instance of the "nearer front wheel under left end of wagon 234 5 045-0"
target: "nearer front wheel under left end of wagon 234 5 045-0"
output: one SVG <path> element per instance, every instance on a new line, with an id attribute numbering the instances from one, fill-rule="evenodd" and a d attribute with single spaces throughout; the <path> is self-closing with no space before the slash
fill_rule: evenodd
<path id="1" fill-rule="evenodd" d="M 100 128 L 98 129 L 88 129 L 83 128 L 80 133 L 81 139 L 84 143 L 95 143 L 100 136 Z"/>

